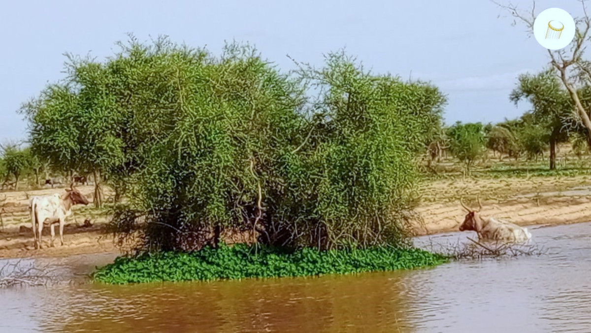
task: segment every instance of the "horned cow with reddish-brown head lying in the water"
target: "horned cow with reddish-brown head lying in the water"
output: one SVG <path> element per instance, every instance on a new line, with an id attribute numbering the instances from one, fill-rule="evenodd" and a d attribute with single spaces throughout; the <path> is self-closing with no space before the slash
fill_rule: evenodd
<path id="1" fill-rule="evenodd" d="M 461 199 L 460 204 L 468 212 L 464 222 L 460 225 L 460 231 L 476 231 L 480 241 L 524 243 L 531 238 L 531 234 L 527 231 L 527 228 L 519 227 L 517 224 L 499 221 L 495 218 L 483 218 L 480 216 L 479 212 L 480 209 L 482 209 L 480 198 L 478 198 L 478 211 L 473 211 L 472 209 L 467 208 Z"/>

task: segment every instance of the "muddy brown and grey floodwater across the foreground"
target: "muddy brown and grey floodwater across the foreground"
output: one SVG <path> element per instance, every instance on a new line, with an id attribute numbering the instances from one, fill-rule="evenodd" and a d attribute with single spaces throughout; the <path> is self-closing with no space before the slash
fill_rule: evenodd
<path id="1" fill-rule="evenodd" d="M 591 223 L 530 229 L 546 254 L 350 276 L 10 288 L 0 332 L 591 332 Z M 92 269 L 76 260 L 65 266 Z"/>

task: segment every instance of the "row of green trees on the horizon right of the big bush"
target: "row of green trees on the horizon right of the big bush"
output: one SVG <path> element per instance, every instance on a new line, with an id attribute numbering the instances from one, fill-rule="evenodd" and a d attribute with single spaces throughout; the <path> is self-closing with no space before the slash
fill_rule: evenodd
<path id="1" fill-rule="evenodd" d="M 591 89 L 578 89 L 579 100 L 585 109 L 591 108 Z M 465 163 L 466 171 L 487 151 L 502 159 L 537 160 L 548 151 L 548 169 L 556 169 L 557 145 L 571 143 L 573 153 L 582 156 L 589 151 L 588 133 L 574 108 L 573 100 L 558 79 L 556 70 L 544 70 L 518 77 L 509 95 L 516 105 L 528 101 L 532 109 L 517 119 L 505 119 L 497 124 L 456 122 L 441 128 L 428 144 L 428 167 L 441 158 L 444 150 Z M 433 170 L 431 168 L 431 170 Z"/>

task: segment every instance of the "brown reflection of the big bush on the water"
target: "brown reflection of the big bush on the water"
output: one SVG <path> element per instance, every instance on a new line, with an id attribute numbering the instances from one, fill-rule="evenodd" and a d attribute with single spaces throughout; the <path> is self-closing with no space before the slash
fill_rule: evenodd
<path id="1" fill-rule="evenodd" d="M 48 290 L 36 311 L 43 331 L 413 331 L 404 284 L 392 277 L 95 284 Z"/>

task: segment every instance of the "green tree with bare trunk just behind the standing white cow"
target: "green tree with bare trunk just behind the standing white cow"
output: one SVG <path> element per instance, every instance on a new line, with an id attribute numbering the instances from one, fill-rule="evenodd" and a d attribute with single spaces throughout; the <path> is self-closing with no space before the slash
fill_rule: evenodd
<path id="1" fill-rule="evenodd" d="M 93 173 L 98 207 L 103 170 L 123 161 L 121 113 L 102 64 L 75 57 L 68 64 L 66 82 L 48 86 L 21 112 L 29 119 L 34 156 L 64 173 Z"/>

